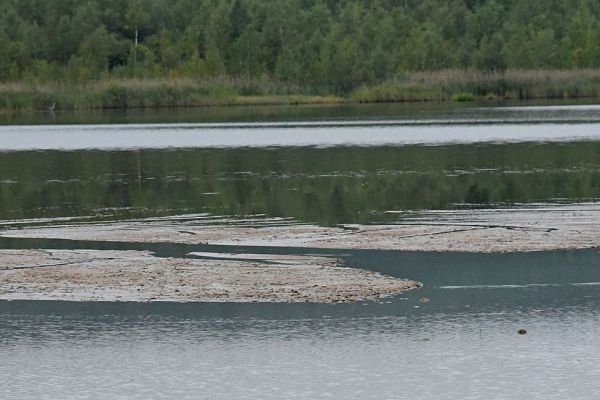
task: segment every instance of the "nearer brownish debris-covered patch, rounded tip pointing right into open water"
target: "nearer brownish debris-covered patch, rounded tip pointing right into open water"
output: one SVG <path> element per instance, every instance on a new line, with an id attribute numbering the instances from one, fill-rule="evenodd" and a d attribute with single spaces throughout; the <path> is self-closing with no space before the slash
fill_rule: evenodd
<path id="1" fill-rule="evenodd" d="M 0 299 L 341 303 L 421 286 L 343 267 L 333 257 L 242 257 L 246 259 L 159 258 L 144 251 L 0 250 Z"/>

